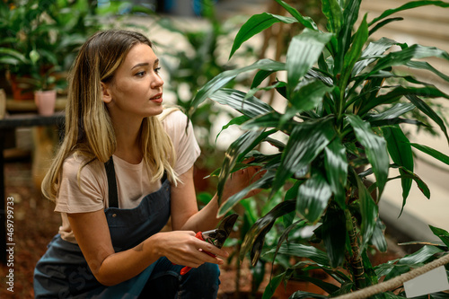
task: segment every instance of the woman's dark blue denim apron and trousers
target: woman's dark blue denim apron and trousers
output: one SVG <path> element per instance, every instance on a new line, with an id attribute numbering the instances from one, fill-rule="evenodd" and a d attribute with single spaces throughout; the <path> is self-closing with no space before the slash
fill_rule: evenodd
<path id="1" fill-rule="evenodd" d="M 170 191 L 170 182 L 164 180 L 161 188 L 143 198 L 138 207 L 105 210 L 115 251 L 128 250 L 163 228 L 170 216 Z M 215 264 L 193 268 L 184 276 L 180 276 L 181 268 L 161 258 L 136 277 L 116 286 L 102 286 L 93 277 L 79 246 L 57 234 L 34 269 L 34 294 L 45 299 L 216 298 L 220 272 Z"/>

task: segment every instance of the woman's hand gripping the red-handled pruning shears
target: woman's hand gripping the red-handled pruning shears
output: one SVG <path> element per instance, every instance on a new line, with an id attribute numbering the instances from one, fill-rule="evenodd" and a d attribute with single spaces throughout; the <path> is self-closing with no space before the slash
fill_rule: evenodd
<path id="1" fill-rule="evenodd" d="M 229 253 L 216 246 L 199 240 L 195 233 L 191 231 L 173 231 L 167 233 L 157 233 L 158 251 L 161 256 L 165 256 L 173 264 L 198 268 L 205 262 L 221 265 L 223 259 L 209 256 L 205 252 L 216 256 L 227 258 Z M 156 236 L 154 235 L 154 236 Z"/>

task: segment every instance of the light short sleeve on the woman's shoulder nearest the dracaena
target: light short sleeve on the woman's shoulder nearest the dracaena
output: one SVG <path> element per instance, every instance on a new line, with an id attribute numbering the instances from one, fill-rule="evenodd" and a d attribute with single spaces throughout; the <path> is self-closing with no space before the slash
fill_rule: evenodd
<path id="1" fill-rule="evenodd" d="M 163 119 L 163 128 L 172 138 L 176 152 L 174 171 L 180 175 L 193 166 L 201 153 L 192 123 L 184 113 L 175 110 Z"/>

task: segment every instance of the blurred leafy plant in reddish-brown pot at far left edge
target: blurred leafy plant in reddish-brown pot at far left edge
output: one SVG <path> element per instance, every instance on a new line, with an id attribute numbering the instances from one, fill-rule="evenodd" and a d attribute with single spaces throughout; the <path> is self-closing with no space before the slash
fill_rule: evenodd
<path id="1" fill-rule="evenodd" d="M 22 78 L 31 78 L 31 68 L 57 65 L 55 27 L 46 13 L 56 1 L 0 2 L 0 68 L 9 73 L 16 100 L 31 100 L 31 85 Z M 16 87 L 18 88 L 16 90 Z M 28 90 L 28 92 L 23 92 Z"/>

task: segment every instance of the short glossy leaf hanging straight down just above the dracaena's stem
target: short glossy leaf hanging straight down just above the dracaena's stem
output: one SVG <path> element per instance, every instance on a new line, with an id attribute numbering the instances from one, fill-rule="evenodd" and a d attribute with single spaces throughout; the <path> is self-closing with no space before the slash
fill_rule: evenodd
<path id="1" fill-rule="evenodd" d="M 346 148 L 341 139 L 335 138 L 324 150 L 324 164 L 326 176 L 330 182 L 330 189 L 339 207 L 346 207 L 346 185 L 348 179 L 348 159 Z"/>

